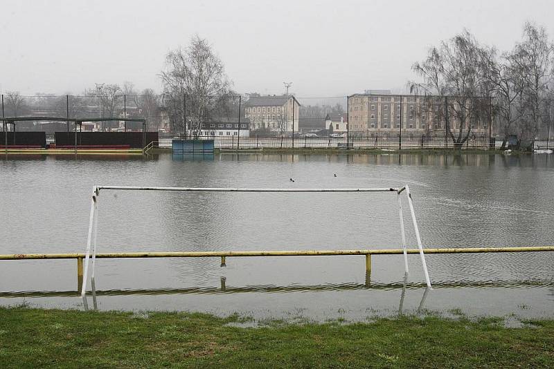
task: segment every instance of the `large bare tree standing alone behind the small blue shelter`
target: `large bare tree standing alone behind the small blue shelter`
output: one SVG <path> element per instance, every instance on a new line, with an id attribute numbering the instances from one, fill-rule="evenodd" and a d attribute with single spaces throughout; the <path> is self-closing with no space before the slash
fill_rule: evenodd
<path id="1" fill-rule="evenodd" d="M 229 97 L 231 83 L 223 63 L 208 41 L 198 35 L 190 40 L 188 48 L 168 53 L 166 69 L 160 77 L 164 93 L 172 100 L 168 107 L 173 110 L 173 128 L 184 130 L 186 116 L 190 122 L 188 130 L 195 136 L 202 128 L 202 122 L 210 120 L 218 104 Z M 177 122 L 179 113 L 182 117 L 180 124 Z"/>

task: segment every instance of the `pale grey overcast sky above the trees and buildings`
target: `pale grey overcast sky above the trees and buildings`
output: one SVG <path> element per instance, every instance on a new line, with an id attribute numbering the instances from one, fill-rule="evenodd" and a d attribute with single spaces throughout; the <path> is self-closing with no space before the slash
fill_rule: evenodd
<path id="1" fill-rule="evenodd" d="M 427 48 L 467 28 L 508 50 L 528 19 L 554 35 L 554 1 L 0 1 L 1 91 L 161 91 L 168 50 L 208 39 L 235 91 L 336 96 L 403 88 Z"/>

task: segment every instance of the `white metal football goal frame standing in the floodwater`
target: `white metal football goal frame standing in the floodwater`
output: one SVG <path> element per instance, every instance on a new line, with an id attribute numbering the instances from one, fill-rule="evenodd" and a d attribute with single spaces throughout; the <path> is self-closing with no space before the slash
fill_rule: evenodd
<path id="1" fill-rule="evenodd" d="M 423 267 L 423 272 L 425 273 L 425 282 L 427 287 L 431 287 L 431 281 L 429 280 L 429 272 L 427 272 L 427 263 L 425 263 L 425 254 L 423 252 L 423 246 L 421 243 L 420 231 L 418 229 L 418 223 L 415 220 L 415 211 L 413 210 L 413 202 L 411 198 L 411 193 L 409 187 L 406 185 L 400 188 L 361 188 L 361 189 L 254 189 L 254 188 L 199 188 L 199 187 L 134 187 L 134 186 L 95 186 L 93 187 L 92 198 L 91 198 L 91 210 L 89 218 L 89 232 L 87 236 L 87 251 L 84 257 L 84 273 L 82 281 L 81 296 L 84 300 L 85 306 L 87 305 L 86 301 L 86 292 L 87 292 L 87 279 L 89 275 L 89 261 L 92 259 L 92 271 L 91 271 L 91 283 L 94 283 L 94 270 L 95 270 L 95 261 L 96 261 L 96 235 L 98 233 L 98 199 L 100 197 L 100 191 L 107 190 L 123 190 L 123 191 L 178 191 L 178 192 L 325 192 L 325 193 L 334 193 L 334 192 L 388 192 L 397 194 L 398 202 L 398 215 L 400 218 L 400 235 L 402 240 L 402 249 L 404 251 L 404 268 L 405 272 L 408 273 L 408 256 L 406 253 L 406 234 L 404 232 L 404 217 L 402 216 L 402 202 L 400 195 L 402 192 L 406 192 L 406 197 L 408 199 L 408 204 L 410 208 L 411 220 L 413 223 L 413 228 L 415 230 L 415 238 L 418 243 L 419 253 L 421 256 L 421 263 Z"/>

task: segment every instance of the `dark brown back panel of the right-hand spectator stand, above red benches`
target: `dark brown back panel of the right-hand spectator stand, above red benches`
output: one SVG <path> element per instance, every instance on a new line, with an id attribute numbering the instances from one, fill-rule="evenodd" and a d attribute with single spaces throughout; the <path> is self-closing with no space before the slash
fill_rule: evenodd
<path id="1" fill-rule="evenodd" d="M 86 146 L 144 147 L 158 140 L 157 132 L 77 132 L 77 144 Z M 56 132 L 56 146 L 75 145 L 75 132 Z"/>

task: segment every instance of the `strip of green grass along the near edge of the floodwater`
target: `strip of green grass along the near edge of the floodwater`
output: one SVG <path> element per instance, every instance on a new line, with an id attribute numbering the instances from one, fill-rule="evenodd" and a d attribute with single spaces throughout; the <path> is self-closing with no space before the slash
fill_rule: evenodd
<path id="1" fill-rule="evenodd" d="M 239 316 L 0 308 L 0 367 L 475 368 L 554 366 L 554 321 L 428 316 L 226 325 Z"/>

